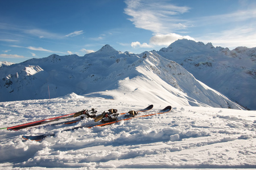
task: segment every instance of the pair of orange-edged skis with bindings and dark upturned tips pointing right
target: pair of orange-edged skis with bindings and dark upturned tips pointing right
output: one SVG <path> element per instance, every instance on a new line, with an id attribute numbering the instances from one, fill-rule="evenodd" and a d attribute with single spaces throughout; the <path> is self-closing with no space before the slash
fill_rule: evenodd
<path id="1" fill-rule="evenodd" d="M 96 126 L 111 125 L 111 124 L 115 124 L 119 121 L 126 121 L 126 120 L 130 120 L 132 118 L 147 117 L 147 116 L 153 116 L 155 114 L 167 113 L 167 112 L 170 112 L 171 109 L 172 109 L 171 106 L 167 106 L 166 108 L 164 108 L 164 109 L 162 109 L 162 110 L 160 110 L 156 113 L 151 113 L 151 114 L 146 114 L 146 115 L 141 115 L 141 116 L 138 115 L 139 112 L 146 112 L 146 111 L 149 111 L 152 108 L 153 108 L 153 105 L 149 105 L 147 108 L 141 109 L 139 111 L 130 111 L 130 112 L 127 112 L 127 113 L 119 113 L 120 115 L 126 114 L 126 115 L 122 116 L 122 118 L 117 118 L 117 116 L 119 114 L 117 113 L 116 109 L 109 109 L 108 112 L 103 112 L 102 114 L 95 117 L 94 121 L 96 123 L 94 123 L 94 124 L 84 125 L 84 126 L 77 126 L 75 128 L 65 129 L 63 131 L 72 131 L 72 130 L 76 130 L 76 129 L 80 129 L 80 128 L 93 128 L 93 127 L 96 127 Z M 98 122 L 98 121 L 100 121 L 100 122 Z M 52 133 L 47 133 L 47 134 L 42 134 L 42 135 L 23 135 L 22 138 L 26 139 L 26 140 L 30 139 L 31 141 L 41 141 L 46 137 L 54 136 L 54 135 L 55 135 L 55 133 L 52 132 Z"/>

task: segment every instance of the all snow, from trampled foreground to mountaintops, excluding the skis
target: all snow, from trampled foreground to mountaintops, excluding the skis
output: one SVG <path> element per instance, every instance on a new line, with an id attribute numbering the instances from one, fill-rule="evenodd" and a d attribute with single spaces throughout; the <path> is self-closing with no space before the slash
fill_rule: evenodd
<path id="1" fill-rule="evenodd" d="M 150 114 L 172 106 L 168 113 L 91 129 L 63 131 L 92 124 L 91 118 L 1 129 L 1 168 L 256 168 L 256 111 L 229 99 L 255 107 L 255 48 L 178 40 L 133 54 L 105 45 L 84 57 L 52 54 L 3 65 L 0 77 L 0 128 L 82 109 L 125 113 L 154 104 L 140 113 Z M 40 142 L 22 138 L 52 132 Z"/>

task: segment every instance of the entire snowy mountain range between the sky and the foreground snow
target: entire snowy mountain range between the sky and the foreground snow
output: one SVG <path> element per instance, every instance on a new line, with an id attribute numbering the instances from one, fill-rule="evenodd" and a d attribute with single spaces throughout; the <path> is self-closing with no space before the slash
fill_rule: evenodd
<path id="1" fill-rule="evenodd" d="M 149 104 L 243 109 L 238 102 L 256 109 L 255 49 L 230 51 L 177 40 L 168 48 L 142 54 L 122 53 L 110 45 L 84 57 L 52 54 L 0 67 L 0 101 L 75 92 Z"/>

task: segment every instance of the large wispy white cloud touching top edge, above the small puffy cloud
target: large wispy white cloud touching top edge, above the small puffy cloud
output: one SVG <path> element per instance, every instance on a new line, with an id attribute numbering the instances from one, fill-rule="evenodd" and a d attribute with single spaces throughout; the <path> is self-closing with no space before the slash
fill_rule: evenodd
<path id="1" fill-rule="evenodd" d="M 169 33 L 188 27 L 187 20 L 181 20 L 176 15 L 189 11 L 189 7 L 175 6 L 167 1 L 126 0 L 125 14 L 135 27 L 147 29 L 154 33 Z"/>

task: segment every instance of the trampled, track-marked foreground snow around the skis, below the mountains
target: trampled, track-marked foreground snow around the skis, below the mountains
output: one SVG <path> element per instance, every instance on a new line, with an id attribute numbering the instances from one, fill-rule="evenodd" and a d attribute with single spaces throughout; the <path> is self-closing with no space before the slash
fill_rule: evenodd
<path id="1" fill-rule="evenodd" d="M 56 99 L 0 103 L 0 128 L 96 108 L 119 113 L 154 103 L 69 94 Z M 166 105 L 154 104 L 156 112 Z M 256 168 L 256 111 L 172 105 L 172 111 L 92 129 L 57 133 L 43 141 L 24 134 L 52 126 L 0 131 L 2 168 Z M 90 123 L 84 119 L 68 128 Z M 58 126 L 56 131 L 67 126 Z"/>

